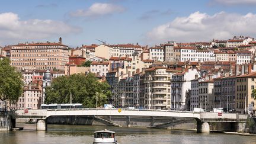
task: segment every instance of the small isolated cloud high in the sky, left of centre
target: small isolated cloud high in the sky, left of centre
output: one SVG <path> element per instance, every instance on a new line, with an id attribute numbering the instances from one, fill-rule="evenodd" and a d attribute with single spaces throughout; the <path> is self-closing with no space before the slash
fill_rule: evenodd
<path id="1" fill-rule="evenodd" d="M 124 8 L 120 5 L 107 4 L 107 3 L 95 3 L 88 9 L 78 9 L 75 12 L 71 12 L 72 17 L 98 17 L 102 15 L 109 15 L 114 13 L 124 12 Z"/>

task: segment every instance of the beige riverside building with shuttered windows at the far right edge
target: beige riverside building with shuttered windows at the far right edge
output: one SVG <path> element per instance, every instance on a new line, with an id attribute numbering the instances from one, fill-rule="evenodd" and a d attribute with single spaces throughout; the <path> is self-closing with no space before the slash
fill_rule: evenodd
<path id="1" fill-rule="evenodd" d="M 236 76 L 236 113 L 249 113 L 249 107 L 252 107 L 252 111 L 256 110 L 254 100 L 255 95 L 252 94 L 252 90 L 256 87 L 256 72 L 251 72 L 247 75 Z"/>

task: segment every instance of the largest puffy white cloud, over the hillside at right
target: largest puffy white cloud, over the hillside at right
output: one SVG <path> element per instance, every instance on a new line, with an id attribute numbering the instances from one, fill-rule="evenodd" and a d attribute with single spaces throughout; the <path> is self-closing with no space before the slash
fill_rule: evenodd
<path id="1" fill-rule="evenodd" d="M 177 17 L 170 23 L 159 25 L 146 33 L 149 44 L 167 40 L 180 42 L 230 39 L 235 35 L 255 36 L 256 15 L 229 14 L 219 12 L 208 15 L 199 11 L 188 17 Z"/>

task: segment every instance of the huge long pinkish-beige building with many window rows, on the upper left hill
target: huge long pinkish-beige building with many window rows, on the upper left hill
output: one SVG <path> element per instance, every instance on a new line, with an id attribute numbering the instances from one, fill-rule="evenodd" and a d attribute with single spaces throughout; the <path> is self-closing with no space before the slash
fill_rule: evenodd
<path id="1" fill-rule="evenodd" d="M 11 65 L 23 69 L 60 69 L 69 62 L 68 46 L 59 43 L 20 43 L 11 46 Z"/>

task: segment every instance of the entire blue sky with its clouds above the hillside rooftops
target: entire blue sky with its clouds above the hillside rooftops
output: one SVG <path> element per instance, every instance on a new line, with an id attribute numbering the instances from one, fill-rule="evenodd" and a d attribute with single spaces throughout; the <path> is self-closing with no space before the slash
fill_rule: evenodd
<path id="1" fill-rule="evenodd" d="M 1 1 L 0 46 L 25 42 L 154 46 L 256 38 L 256 0 Z"/>

